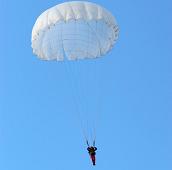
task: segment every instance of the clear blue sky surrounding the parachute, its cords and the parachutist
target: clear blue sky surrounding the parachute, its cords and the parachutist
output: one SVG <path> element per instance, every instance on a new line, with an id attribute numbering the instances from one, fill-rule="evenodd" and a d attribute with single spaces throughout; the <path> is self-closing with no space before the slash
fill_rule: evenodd
<path id="1" fill-rule="evenodd" d="M 32 54 L 36 18 L 61 2 L 0 0 L 0 170 L 171 170 L 172 1 L 92 1 L 120 27 L 99 72 L 96 167 L 63 65 Z"/>

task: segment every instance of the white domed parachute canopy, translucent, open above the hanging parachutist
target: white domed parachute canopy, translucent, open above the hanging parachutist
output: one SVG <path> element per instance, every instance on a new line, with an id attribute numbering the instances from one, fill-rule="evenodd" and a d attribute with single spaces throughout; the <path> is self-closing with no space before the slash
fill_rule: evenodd
<path id="1" fill-rule="evenodd" d="M 65 2 L 43 12 L 32 30 L 33 53 L 43 60 L 76 60 L 105 55 L 118 38 L 113 15 L 84 1 Z"/>

